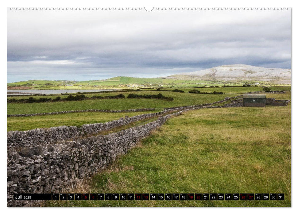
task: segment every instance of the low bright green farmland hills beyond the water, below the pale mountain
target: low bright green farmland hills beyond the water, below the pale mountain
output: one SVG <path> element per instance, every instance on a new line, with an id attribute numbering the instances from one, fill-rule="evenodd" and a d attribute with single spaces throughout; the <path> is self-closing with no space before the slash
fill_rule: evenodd
<path id="1" fill-rule="evenodd" d="M 173 79 L 166 78 L 136 78 L 127 76 L 117 76 L 110 79 L 103 80 L 87 80 L 87 81 L 74 81 L 74 80 L 28 80 L 15 83 L 7 83 L 7 87 L 30 87 L 30 89 L 36 90 L 48 90 L 48 89 L 94 89 L 96 88 L 129 88 L 129 85 L 139 85 L 138 87 L 195 87 L 195 86 L 211 86 L 218 85 L 242 85 L 242 84 L 254 84 L 255 81 L 239 80 L 237 82 L 230 81 L 212 81 L 212 80 L 200 80 L 192 79 L 189 77 L 184 79 L 184 76 L 173 77 Z M 262 85 L 270 85 L 273 82 L 258 81 Z M 143 85 L 143 86 L 140 86 Z M 69 85 L 69 86 L 67 86 Z M 14 88 L 12 88 L 14 89 Z M 17 88 L 15 88 L 17 89 Z M 24 88 L 25 89 L 25 88 Z"/>

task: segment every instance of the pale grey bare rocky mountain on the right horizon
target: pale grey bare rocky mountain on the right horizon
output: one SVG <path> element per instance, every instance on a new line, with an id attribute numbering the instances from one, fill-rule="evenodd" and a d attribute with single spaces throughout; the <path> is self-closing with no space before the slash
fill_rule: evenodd
<path id="1" fill-rule="evenodd" d="M 205 70 L 168 76 L 168 78 L 205 80 L 258 80 L 291 83 L 291 69 L 262 68 L 252 65 L 222 65 Z"/>

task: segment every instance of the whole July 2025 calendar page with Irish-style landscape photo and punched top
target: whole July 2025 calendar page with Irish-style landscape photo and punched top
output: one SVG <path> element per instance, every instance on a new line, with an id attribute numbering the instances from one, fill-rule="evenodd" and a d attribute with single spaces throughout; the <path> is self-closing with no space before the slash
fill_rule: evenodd
<path id="1" fill-rule="evenodd" d="M 290 7 L 7 7 L 8 207 L 291 207 Z"/>

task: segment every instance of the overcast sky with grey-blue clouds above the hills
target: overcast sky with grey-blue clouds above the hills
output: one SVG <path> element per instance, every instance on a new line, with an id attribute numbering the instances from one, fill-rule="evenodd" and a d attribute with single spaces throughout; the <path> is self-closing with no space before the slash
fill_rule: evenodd
<path id="1" fill-rule="evenodd" d="M 7 82 L 291 68 L 288 10 L 10 10 Z"/>

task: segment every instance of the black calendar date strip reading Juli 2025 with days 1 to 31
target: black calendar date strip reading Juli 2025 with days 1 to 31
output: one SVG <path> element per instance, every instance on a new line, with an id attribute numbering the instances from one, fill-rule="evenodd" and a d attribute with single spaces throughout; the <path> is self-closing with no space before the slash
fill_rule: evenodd
<path id="1" fill-rule="evenodd" d="M 14 194 L 27 201 L 278 201 L 284 193 L 45 193 Z"/>

